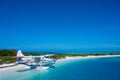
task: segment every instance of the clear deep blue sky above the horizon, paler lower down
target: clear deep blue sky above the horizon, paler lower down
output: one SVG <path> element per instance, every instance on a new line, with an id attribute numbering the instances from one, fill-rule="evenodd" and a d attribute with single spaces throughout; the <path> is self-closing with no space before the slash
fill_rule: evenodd
<path id="1" fill-rule="evenodd" d="M 0 0 L 0 49 L 120 49 L 119 0 Z"/>

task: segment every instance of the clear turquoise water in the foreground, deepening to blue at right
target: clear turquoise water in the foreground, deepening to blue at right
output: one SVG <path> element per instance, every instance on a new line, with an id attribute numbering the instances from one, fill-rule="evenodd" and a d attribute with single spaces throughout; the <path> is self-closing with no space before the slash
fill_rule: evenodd
<path id="1" fill-rule="evenodd" d="M 49 70 L 0 73 L 0 80 L 120 80 L 120 57 L 57 63 Z"/>

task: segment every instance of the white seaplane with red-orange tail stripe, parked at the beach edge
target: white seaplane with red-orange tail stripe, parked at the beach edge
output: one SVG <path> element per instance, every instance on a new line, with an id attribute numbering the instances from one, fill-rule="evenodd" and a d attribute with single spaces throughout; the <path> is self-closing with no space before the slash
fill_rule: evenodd
<path id="1" fill-rule="evenodd" d="M 33 69 L 37 67 L 49 69 L 50 67 L 54 67 L 56 60 L 48 58 L 48 56 L 51 55 L 25 56 L 21 50 L 18 50 L 17 56 L 13 56 L 13 58 L 16 58 L 17 64 L 25 64 L 25 69 Z"/>

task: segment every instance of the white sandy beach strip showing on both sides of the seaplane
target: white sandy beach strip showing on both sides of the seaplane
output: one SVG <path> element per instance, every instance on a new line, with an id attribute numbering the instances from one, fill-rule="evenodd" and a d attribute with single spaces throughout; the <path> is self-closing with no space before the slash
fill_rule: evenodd
<path id="1" fill-rule="evenodd" d="M 69 57 L 69 56 L 66 56 L 65 59 L 58 59 L 56 61 L 56 63 L 61 63 L 61 62 L 65 62 L 65 61 L 70 61 L 70 60 L 78 60 L 78 59 L 90 59 L 90 58 L 103 58 L 103 57 L 120 57 L 120 55 L 103 55 L 103 56 L 86 56 L 86 57 L 82 57 L 82 56 L 76 56 L 76 57 Z M 3 65 L 0 65 L 1 66 L 7 66 L 7 65 L 13 65 L 14 63 L 11 63 L 11 64 L 3 64 Z M 3 71 L 8 71 L 8 70 L 17 70 L 17 69 L 23 69 L 25 67 L 25 65 L 23 64 L 18 64 L 18 65 L 15 65 L 15 66 L 11 66 L 11 67 L 5 67 L 5 68 L 0 68 L 0 72 L 3 72 Z"/>

